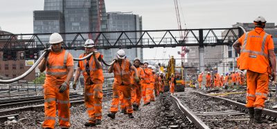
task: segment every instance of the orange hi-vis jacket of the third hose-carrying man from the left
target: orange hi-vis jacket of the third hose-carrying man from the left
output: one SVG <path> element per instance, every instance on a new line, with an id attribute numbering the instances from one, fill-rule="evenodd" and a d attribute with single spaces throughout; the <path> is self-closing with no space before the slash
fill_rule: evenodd
<path id="1" fill-rule="evenodd" d="M 131 76 L 130 76 L 130 62 L 129 59 L 123 59 L 121 66 L 116 61 L 114 63 L 114 83 L 118 85 L 130 85 L 131 84 Z"/>

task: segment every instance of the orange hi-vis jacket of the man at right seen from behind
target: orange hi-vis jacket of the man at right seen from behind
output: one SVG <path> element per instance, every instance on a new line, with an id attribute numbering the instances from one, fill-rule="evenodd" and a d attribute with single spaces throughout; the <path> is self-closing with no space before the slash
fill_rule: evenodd
<path id="1" fill-rule="evenodd" d="M 240 70 L 265 73 L 269 68 L 269 52 L 274 49 L 271 34 L 267 34 L 262 28 L 255 28 L 246 32 L 238 39 L 242 45 L 238 67 Z"/>

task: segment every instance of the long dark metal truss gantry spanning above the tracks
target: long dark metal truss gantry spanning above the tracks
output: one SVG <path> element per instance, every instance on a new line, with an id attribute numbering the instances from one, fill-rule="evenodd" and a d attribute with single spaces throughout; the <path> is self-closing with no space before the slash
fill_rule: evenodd
<path id="1" fill-rule="evenodd" d="M 184 37 L 180 37 L 180 33 Z M 86 39 L 93 39 L 97 49 L 154 48 L 178 46 L 231 46 L 243 31 L 241 28 L 206 28 L 186 30 L 138 30 L 111 32 L 60 33 L 67 50 L 82 50 Z M 44 50 L 51 33 L 1 34 L 0 51 Z"/>

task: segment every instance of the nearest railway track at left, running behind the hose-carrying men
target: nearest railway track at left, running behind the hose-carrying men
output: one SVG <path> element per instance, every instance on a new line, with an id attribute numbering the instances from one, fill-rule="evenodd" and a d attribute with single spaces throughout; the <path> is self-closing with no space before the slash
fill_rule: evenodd
<path id="1" fill-rule="evenodd" d="M 112 95 L 112 90 L 103 90 L 103 96 Z M 44 102 L 44 99 L 42 100 L 35 100 L 35 101 L 42 101 Z M 25 103 L 33 103 L 33 101 L 24 101 Z M 24 103 L 22 101 L 19 101 L 17 103 L 6 103 L 6 105 L 12 105 L 12 106 L 19 106 L 18 108 L 9 108 L 9 109 L 3 109 L 0 110 L 0 121 L 6 121 L 9 118 L 17 118 L 19 115 L 19 112 L 23 112 L 26 110 L 40 110 L 44 108 L 44 104 L 36 104 L 32 106 L 24 106 L 22 107 L 21 104 Z M 80 105 L 84 103 L 84 97 L 83 95 L 74 95 L 74 97 L 70 98 L 71 106 Z"/>

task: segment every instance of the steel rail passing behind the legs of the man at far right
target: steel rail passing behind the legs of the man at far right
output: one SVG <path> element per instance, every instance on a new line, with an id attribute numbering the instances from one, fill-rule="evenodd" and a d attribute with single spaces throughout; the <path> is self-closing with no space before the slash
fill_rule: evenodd
<path id="1" fill-rule="evenodd" d="M 205 95 L 205 94 L 202 94 L 201 92 L 195 92 L 195 93 L 197 93 L 198 95 L 202 95 L 204 97 L 211 97 L 211 98 L 217 99 L 219 101 L 225 101 L 226 103 L 229 103 L 231 105 L 238 106 L 238 108 L 242 108 L 244 110 L 247 110 L 247 107 L 245 107 L 244 103 L 239 103 L 237 101 L 233 101 L 233 100 L 222 98 L 222 97 L 213 97 L 211 95 Z M 270 109 L 264 108 L 263 111 L 262 111 L 262 114 L 266 115 L 266 116 L 269 116 L 271 118 L 274 118 L 274 119 L 277 118 L 277 111 L 276 110 L 270 110 Z"/>

